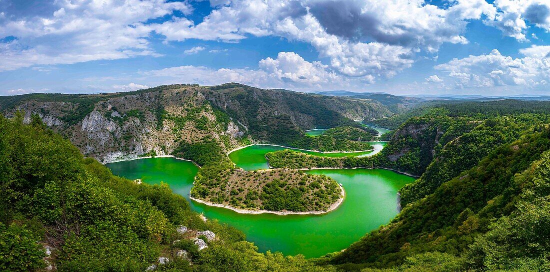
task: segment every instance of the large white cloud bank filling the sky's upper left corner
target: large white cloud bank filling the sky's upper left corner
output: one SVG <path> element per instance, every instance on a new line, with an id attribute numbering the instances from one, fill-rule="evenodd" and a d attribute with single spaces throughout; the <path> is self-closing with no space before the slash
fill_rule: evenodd
<path id="1" fill-rule="evenodd" d="M 179 10 L 184 2 L 164 0 L 55 1 L 51 16 L 7 17 L 0 21 L 0 71 L 32 65 L 72 64 L 98 59 L 160 55 L 149 45 L 147 20 Z"/>

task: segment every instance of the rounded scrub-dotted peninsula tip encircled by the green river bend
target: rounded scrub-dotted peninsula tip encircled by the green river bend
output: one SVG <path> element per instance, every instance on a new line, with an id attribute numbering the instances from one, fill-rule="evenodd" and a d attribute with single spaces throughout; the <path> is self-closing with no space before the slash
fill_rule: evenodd
<path id="1" fill-rule="evenodd" d="M 200 171 L 191 196 L 240 209 L 308 212 L 327 210 L 340 192 L 327 176 L 289 169 L 227 169 L 216 176 Z"/>

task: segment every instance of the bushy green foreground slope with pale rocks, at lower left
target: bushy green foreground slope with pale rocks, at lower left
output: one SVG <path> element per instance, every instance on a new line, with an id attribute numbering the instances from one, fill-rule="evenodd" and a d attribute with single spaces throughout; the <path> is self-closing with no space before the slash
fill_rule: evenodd
<path id="1" fill-rule="evenodd" d="M 259 253 L 241 232 L 203 221 L 167 185 L 113 176 L 40 119 L 22 119 L 0 117 L 2 271 L 144 271 L 151 264 L 157 271 L 337 271 L 301 256 Z M 211 230 L 219 240 L 198 251 L 193 236 L 175 231 L 179 225 Z M 190 259 L 178 257 L 180 250 Z M 160 256 L 170 262 L 159 264 Z"/>

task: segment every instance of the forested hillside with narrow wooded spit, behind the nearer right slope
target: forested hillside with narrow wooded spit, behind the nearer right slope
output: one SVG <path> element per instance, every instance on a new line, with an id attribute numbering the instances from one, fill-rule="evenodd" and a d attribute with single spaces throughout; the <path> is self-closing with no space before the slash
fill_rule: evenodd
<path id="1" fill-rule="evenodd" d="M 420 176 L 401 188 L 401 203 L 405 206 L 470 169 L 494 148 L 539 131 L 550 122 L 545 110 L 550 110 L 550 103 L 445 104 L 405 121 L 374 157 L 316 158 L 278 151 L 268 154 L 268 158 L 274 167 L 383 167 Z"/>

